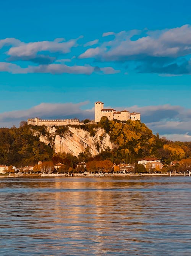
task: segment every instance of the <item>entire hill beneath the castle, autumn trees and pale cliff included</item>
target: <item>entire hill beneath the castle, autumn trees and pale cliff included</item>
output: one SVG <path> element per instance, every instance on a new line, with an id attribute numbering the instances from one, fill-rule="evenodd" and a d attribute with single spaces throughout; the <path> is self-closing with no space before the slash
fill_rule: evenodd
<path id="1" fill-rule="evenodd" d="M 146 156 L 163 162 L 191 157 L 191 142 L 172 142 L 140 121 L 109 121 L 82 126 L 28 126 L 0 129 L 0 164 L 32 165 L 37 161 L 76 162 L 106 160 L 133 163 Z"/>

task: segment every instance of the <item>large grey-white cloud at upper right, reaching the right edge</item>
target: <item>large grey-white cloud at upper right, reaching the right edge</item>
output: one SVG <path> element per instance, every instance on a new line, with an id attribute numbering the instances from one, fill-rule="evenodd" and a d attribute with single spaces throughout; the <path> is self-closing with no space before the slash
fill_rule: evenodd
<path id="1" fill-rule="evenodd" d="M 99 53 L 100 57 L 106 61 L 117 61 L 128 56 L 134 56 L 136 59 L 137 55 L 176 58 L 191 53 L 191 26 L 189 25 L 161 30 L 160 33 L 142 32 L 144 36 L 139 36 L 136 40 L 131 40 L 131 37 L 139 35 L 141 33 L 139 30 L 104 33 L 103 36 L 115 35 L 115 38 L 102 43 L 96 51 L 91 52 L 91 57 L 96 57 Z M 108 50 L 105 46 L 110 46 L 110 49 Z M 83 56 L 89 58 L 87 54 Z"/>

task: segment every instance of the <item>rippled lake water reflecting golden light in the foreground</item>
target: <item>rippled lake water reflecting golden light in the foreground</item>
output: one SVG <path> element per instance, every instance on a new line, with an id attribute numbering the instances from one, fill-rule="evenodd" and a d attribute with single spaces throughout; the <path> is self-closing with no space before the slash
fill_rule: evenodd
<path id="1" fill-rule="evenodd" d="M 191 255 L 191 177 L 1 178 L 0 255 Z"/>

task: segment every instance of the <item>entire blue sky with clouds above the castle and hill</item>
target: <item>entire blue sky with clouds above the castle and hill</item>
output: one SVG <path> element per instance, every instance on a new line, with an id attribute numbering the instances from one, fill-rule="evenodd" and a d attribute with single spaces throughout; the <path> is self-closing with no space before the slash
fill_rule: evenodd
<path id="1" fill-rule="evenodd" d="M 191 141 L 191 2 L 7 0 L 0 7 L 0 127 L 141 113 Z"/>

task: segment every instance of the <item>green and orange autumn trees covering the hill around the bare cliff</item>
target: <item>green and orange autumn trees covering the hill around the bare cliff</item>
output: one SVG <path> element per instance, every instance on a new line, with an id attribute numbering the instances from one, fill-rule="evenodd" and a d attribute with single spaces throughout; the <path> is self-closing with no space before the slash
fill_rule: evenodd
<path id="1" fill-rule="evenodd" d="M 191 158 L 191 142 L 172 142 L 165 138 L 159 139 L 159 134 L 153 135 L 152 131 L 140 121 L 109 121 L 102 117 L 98 124 L 84 124 L 75 126 L 84 129 L 94 137 L 96 129 L 105 129 L 105 135 L 109 134 L 110 141 L 115 145 L 114 149 L 107 148 L 99 151 L 92 157 L 88 148 L 77 157 L 71 154 L 54 152 L 54 136 L 49 134 L 45 126 L 28 126 L 21 122 L 19 128 L 12 127 L 0 129 L 0 164 L 25 166 L 33 165 L 37 161 L 63 162 L 74 167 L 77 162 L 92 160 L 111 160 L 119 163 L 134 163 L 143 157 L 158 157 L 163 163 Z M 68 127 L 55 127 L 56 134 L 72 136 Z M 34 132 L 36 134 L 34 135 Z M 46 135 L 50 143 L 45 145 L 39 141 L 40 135 Z M 100 136 L 100 141 L 104 136 Z M 97 145 L 99 147 L 99 145 Z"/>

